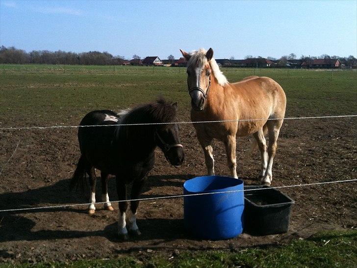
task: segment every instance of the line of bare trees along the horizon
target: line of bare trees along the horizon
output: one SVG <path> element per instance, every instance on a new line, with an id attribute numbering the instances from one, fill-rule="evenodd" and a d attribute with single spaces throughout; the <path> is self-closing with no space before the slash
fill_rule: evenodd
<path id="1" fill-rule="evenodd" d="M 141 57 L 134 54 L 133 59 L 140 59 Z M 169 60 L 174 60 L 174 56 L 171 54 L 167 57 Z M 252 55 L 247 55 L 245 58 L 253 58 Z M 257 58 L 262 58 L 257 56 Z M 341 57 L 337 55 L 322 54 L 320 56 L 306 56 L 301 55 L 300 60 L 309 62 L 315 58 L 338 58 L 342 64 L 347 66 L 353 65 L 356 62 L 356 58 L 353 55 L 347 57 Z M 234 59 L 231 56 L 230 59 Z M 293 53 L 289 55 L 283 55 L 279 59 L 268 56 L 267 59 L 279 60 L 281 64 L 285 64 L 289 60 L 297 59 L 297 56 Z M 48 50 L 33 50 L 26 52 L 25 50 L 16 49 L 15 47 L 0 47 L 0 63 L 13 63 L 13 64 L 71 64 L 71 65 L 121 65 L 125 60 L 124 56 L 112 55 L 108 52 L 89 51 L 82 53 L 65 52 L 65 51 L 48 51 Z"/>

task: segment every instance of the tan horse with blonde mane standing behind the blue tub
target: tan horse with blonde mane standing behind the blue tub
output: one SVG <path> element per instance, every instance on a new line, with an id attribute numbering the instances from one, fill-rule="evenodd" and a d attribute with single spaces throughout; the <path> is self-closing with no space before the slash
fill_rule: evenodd
<path id="1" fill-rule="evenodd" d="M 281 118 L 284 118 L 286 106 L 286 97 L 281 86 L 270 78 L 257 76 L 229 83 L 213 58 L 212 49 L 207 52 L 200 49 L 190 54 L 180 51 L 187 60 L 187 84 L 192 106 L 191 120 L 238 120 L 193 124 L 204 149 L 208 175 L 214 175 L 213 138 L 224 142 L 230 174 L 238 178 L 235 157 L 236 136 L 253 134 L 262 158 L 259 178 L 262 184 L 270 185 L 277 139 L 283 121 Z M 279 120 L 268 120 L 276 118 Z M 257 120 L 240 121 L 247 119 Z M 264 137 L 266 131 L 269 133 L 268 148 Z"/>

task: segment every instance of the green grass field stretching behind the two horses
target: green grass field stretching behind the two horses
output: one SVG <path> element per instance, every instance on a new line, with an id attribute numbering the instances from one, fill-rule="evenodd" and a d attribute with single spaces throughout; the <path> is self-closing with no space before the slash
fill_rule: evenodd
<path id="1" fill-rule="evenodd" d="M 39 66 L 43 71 L 30 71 Z M 178 101 L 180 119 L 188 119 L 190 102 L 184 68 L 116 66 L 117 70 L 111 71 L 113 66 L 78 65 L 68 66 L 73 70 L 63 73 L 50 70 L 63 68 L 60 65 L 5 67 L 17 71 L 0 71 L 2 126 L 14 125 L 9 114 L 26 118 L 26 126 L 75 124 L 90 110 L 118 110 L 151 101 L 158 95 Z M 287 96 L 286 116 L 357 111 L 356 70 L 334 71 L 333 76 L 331 70 L 291 69 L 288 74 L 287 69 L 223 68 L 223 72 L 232 82 L 254 74 L 279 82 Z"/>

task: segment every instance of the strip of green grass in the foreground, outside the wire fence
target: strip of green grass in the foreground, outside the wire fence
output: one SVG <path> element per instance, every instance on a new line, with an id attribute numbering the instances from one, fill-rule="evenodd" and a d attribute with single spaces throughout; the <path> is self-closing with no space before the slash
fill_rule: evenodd
<path id="1" fill-rule="evenodd" d="M 170 258 L 169 254 L 131 254 L 109 260 L 80 260 L 69 263 L 20 264 L 19 268 L 78 267 L 319 267 L 353 268 L 357 263 L 357 231 L 320 233 L 308 240 L 265 248 L 237 248 L 230 251 L 185 251 Z M 14 267 L 10 264 L 0 268 Z"/>

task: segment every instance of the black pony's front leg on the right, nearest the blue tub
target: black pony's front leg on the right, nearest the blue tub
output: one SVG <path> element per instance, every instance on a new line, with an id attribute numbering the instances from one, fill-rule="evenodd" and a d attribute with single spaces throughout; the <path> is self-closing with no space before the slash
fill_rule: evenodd
<path id="1" fill-rule="evenodd" d="M 131 188 L 131 199 L 138 199 L 141 189 L 143 188 L 143 185 L 146 181 L 146 176 L 144 178 L 135 180 L 132 188 Z M 127 215 L 127 225 L 128 225 L 128 230 L 131 235 L 134 236 L 139 236 L 141 235 L 141 232 L 139 231 L 138 226 L 136 225 L 136 213 L 139 207 L 139 201 L 131 201 L 130 202 L 130 209 L 128 211 Z"/>

